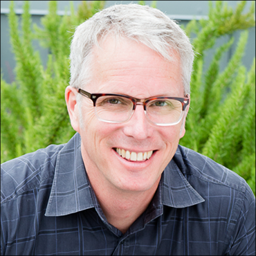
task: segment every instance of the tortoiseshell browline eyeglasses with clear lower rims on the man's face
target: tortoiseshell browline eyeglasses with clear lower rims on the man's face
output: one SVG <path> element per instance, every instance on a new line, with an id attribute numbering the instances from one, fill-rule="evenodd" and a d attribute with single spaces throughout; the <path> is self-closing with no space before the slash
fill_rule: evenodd
<path id="1" fill-rule="evenodd" d="M 186 95 L 187 98 L 154 97 L 142 100 L 121 94 L 89 93 L 82 89 L 77 89 L 77 92 L 93 101 L 98 120 L 113 123 L 127 122 L 136 106 L 142 105 L 147 119 L 154 125 L 176 125 L 190 102 L 189 95 Z"/>

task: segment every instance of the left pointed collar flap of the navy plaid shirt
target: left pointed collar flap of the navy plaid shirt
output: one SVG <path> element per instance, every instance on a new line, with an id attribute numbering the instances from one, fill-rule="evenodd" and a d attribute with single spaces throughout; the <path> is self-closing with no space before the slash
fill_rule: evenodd
<path id="1" fill-rule="evenodd" d="M 62 216 L 94 207 L 82 161 L 80 134 L 75 134 L 57 156 L 45 215 Z"/>

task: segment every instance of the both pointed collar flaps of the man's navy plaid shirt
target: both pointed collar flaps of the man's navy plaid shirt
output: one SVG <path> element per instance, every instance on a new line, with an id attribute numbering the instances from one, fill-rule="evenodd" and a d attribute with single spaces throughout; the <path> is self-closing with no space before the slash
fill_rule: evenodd
<path id="1" fill-rule="evenodd" d="M 184 167 L 181 166 L 183 161 L 179 147 L 177 152 L 163 172 L 160 189 L 156 191 L 158 195 L 154 196 L 154 199 L 163 201 L 153 199 L 155 208 L 161 205 L 185 208 L 204 201 L 181 172 L 180 168 Z M 80 134 L 75 134 L 57 156 L 55 176 L 45 215 L 63 216 L 89 208 L 98 208 L 98 203 L 93 198 L 82 161 Z"/>

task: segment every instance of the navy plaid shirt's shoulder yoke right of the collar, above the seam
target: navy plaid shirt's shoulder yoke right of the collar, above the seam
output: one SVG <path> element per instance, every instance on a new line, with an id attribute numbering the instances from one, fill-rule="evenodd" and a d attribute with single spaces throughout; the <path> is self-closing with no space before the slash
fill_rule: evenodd
<path id="1" fill-rule="evenodd" d="M 183 174 L 194 176 L 205 183 L 219 185 L 223 189 L 231 188 L 242 193 L 249 188 L 246 181 L 232 170 L 181 145 L 176 150 L 174 161 Z"/>

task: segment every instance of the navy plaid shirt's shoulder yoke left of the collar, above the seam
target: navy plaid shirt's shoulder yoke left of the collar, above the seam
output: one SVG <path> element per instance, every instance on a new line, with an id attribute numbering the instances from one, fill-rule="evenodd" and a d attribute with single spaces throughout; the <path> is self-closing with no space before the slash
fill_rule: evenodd
<path id="1" fill-rule="evenodd" d="M 53 177 L 57 156 L 63 147 L 50 145 L 1 164 L 1 203 L 39 188 L 42 181 Z"/>

